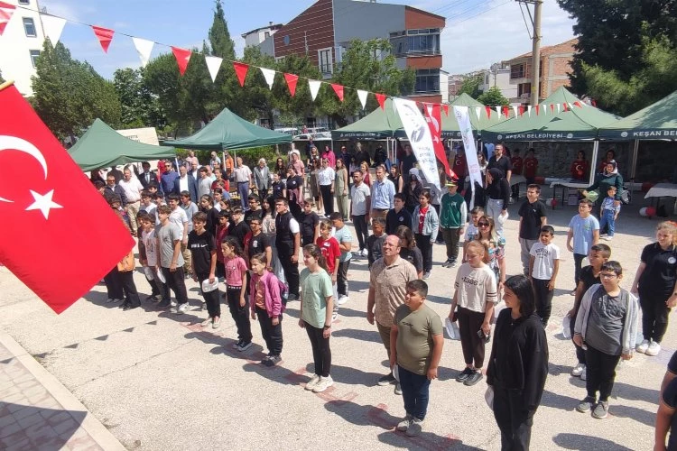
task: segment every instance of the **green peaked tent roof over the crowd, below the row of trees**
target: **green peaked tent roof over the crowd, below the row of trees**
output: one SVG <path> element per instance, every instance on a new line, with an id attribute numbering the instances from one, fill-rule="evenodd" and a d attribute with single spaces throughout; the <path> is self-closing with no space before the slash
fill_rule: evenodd
<path id="1" fill-rule="evenodd" d="M 291 134 L 278 133 L 259 127 L 224 108 L 214 120 L 202 127 L 198 133 L 176 141 L 165 141 L 162 145 L 173 145 L 200 151 L 236 151 L 291 142 Z"/>

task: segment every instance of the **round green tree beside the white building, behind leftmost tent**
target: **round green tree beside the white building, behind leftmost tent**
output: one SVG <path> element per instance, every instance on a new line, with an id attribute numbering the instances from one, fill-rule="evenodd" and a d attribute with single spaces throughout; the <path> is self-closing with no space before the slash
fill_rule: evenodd
<path id="1" fill-rule="evenodd" d="M 73 60 L 62 43 L 45 41 L 32 77 L 32 105 L 52 133 L 61 139 L 79 135 L 97 117 L 120 125 L 116 88 L 87 63 Z"/>

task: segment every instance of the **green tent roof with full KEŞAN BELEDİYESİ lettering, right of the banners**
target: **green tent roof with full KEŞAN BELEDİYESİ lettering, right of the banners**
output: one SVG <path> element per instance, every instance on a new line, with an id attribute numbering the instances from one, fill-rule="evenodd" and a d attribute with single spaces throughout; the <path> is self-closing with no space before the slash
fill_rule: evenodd
<path id="1" fill-rule="evenodd" d="M 575 102 L 580 103 L 574 106 Z M 562 104 L 569 104 L 570 111 L 564 111 Z M 553 113 L 549 105 L 559 105 L 559 113 Z M 541 103 L 540 113 L 522 115 L 494 125 L 482 132 L 482 139 L 496 141 L 560 141 L 593 140 L 598 129 L 618 119 L 617 115 L 606 113 L 594 106 L 583 105 L 566 88 L 558 88 Z"/>

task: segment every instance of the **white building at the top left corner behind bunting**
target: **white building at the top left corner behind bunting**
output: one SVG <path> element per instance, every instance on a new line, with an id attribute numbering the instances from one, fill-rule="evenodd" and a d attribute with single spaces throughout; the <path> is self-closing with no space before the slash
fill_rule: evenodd
<path id="1" fill-rule="evenodd" d="M 31 77 L 35 75 L 35 60 L 44 42 L 38 0 L 3 0 L 16 5 L 14 14 L 0 36 L 0 72 L 5 80 L 25 97 L 32 96 Z"/>

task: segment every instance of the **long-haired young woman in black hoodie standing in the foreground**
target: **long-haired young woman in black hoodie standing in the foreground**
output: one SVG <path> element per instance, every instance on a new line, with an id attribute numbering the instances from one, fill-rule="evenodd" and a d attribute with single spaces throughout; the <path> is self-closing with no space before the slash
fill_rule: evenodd
<path id="1" fill-rule="evenodd" d="M 529 449 L 533 414 L 548 376 L 548 340 L 535 314 L 528 277 L 505 281 L 505 308 L 498 315 L 487 368 L 494 391 L 494 418 L 501 430 L 501 449 Z"/>

